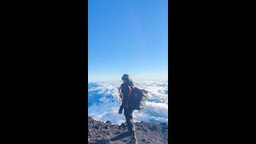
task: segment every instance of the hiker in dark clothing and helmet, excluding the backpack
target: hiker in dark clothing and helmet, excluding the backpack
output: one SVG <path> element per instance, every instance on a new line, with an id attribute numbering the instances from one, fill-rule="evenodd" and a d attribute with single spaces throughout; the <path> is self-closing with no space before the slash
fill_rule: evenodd
<path id="1" fill-rule="evenodd" d="M 128 126 L 128 131 L 126 134 L 130 134 L 132 138 L 132 142 L 137 144 L 137 138 L 135 136 L 135 126 L 133 122 L 133 112 L 134 109 L 130 108 L 129 106 L 129 98 L 131 90 L 134 88 L 134 82 L 130 79 L 128 74 L 124 74 L 122 76 L 122 85 L 121 85 L 121 92 L 123 96 L 122 106 L 120 106 L 118 114 L 122 114 L 122 110 L 124 109 L 124 115 L 126 116 L 126 123 Z"/>

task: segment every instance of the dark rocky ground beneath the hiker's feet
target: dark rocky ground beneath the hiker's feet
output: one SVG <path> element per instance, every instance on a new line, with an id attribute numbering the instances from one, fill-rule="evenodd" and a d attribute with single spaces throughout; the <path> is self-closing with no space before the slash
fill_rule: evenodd
<path id="1" fill-rule="evenodd" d="M 168 143 L 168 124 L 154 124 L 148 122 L 135 122 L 138 144 L 166 144 Z M 128 144 L 130 135 L 122 134 L 127 130 L 126 123 L 121 126 L 112 125 L 111 122 L 98 122 L 88 117 L 88 143 L 89 144 Z"/>

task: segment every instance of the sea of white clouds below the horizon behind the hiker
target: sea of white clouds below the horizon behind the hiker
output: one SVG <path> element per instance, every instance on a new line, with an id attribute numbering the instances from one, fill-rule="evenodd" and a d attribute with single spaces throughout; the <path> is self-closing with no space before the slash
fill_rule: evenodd
<path id="1" fill-rule="evenodd" d="M 149 95 L 143 110 L 134 110 L 134 122 L 168 122 L 168 81 L 134 81 L 135 86 L 147 90 Z M 88 114 L 92 118 L 113 124 L 126 122 L 123 114 L 118 114 L 122 102 L 118 96 L 118 86 L 122 81 L 88 82 Z"/>

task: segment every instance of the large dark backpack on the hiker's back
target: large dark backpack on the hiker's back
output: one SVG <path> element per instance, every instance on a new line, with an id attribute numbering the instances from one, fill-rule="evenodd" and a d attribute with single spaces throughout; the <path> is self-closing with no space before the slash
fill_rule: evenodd
<path id="1" fill-rule="evenodd" d="M 146 106 L 146 98 L 148 92 L 146 90 L 134 87 L 129 98 L 129 106 L 134 110 L 142 110 Z"/>

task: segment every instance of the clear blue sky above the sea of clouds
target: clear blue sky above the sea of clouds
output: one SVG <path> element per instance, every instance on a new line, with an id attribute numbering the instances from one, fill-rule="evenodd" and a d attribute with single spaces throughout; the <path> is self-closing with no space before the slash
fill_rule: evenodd
<path id="1" fill-rule="evenodd" d="M 168 78 L 168 0 L 89 0 L 89 79 Z"/>

